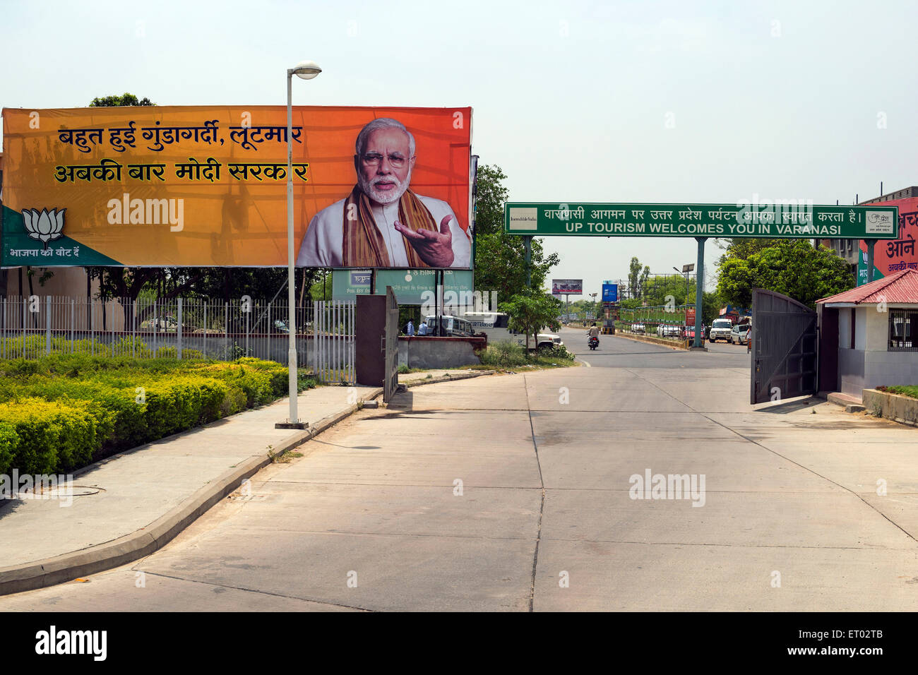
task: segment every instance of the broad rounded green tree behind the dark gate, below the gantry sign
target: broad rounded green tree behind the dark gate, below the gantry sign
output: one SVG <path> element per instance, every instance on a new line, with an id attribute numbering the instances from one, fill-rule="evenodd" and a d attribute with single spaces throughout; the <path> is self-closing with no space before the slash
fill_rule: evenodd
<path id="1" fill-rule="evenodd" d="M 815 308 L 816 300 L 855 286 L 847 264 L 825 246 L 807 240 L 778 240 L 746 258 L 722 258 L 717 289 L 723 301 L 752 304 L 752 289 L 765 288 Z"/>

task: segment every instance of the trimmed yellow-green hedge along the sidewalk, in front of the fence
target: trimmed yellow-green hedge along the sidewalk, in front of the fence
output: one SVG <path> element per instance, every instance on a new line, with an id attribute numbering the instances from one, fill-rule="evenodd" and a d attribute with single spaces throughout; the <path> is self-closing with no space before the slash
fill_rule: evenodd
<path id="1" fill-rule="evenodd" d="M 312 386 L 301 377 L 301 390 Z M 252 358 L 0 361 L 0 474 L 73 470 L 286 392 L 286 366 Z"/>

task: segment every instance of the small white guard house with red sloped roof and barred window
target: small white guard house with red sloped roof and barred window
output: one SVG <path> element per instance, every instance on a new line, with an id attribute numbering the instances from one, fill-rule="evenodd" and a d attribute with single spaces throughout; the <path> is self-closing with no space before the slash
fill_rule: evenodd
<path id="1" fill-rule="evenodd" d="M 918 271 L 904 269 L 816 303 L 819 388 L 861 398 L 918 384 Z"/>

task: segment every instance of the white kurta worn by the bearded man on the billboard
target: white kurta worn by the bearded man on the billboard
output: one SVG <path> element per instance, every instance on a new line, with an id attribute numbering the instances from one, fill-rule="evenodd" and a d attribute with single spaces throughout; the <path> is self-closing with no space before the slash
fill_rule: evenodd
<path id="1" fill-rule="evenodd" d="M 459 225 L 453 209 L 442 199 L 415 195 L 421 203 L 428 208 L 433 216 L 433 221 L 440 227 L 440 222 L 445 216 L 453 216 L 450 220 L 450 231 L 453 232 L 453 264 L 452 267 L 469 267 L 472 257 L 472 242 Z M 346 199 L 336 201 L 330 207 L 323 208 L 309 223 L 309 229 L 303 238 L 297 255 L 297 266 L 301 267 L 341 267 L 341 224 L 344 222 L 344 202 Z M 379 206 L 373 205 L 373 218 L 376 229 L 383 235 L 386 250 L 389 254 L 391 267 L 408 267 L 408 253 L 405 252 L 404 239 L 401 232 L 395 229 L 398 219 L 398 202 Z M 410 245 L 410 244 L 409 244 Z"/>

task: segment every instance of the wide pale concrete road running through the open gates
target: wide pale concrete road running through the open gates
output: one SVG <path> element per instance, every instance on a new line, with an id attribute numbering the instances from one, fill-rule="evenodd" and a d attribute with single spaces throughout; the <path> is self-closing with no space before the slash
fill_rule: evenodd
<path id="1" fill-rule="evenodd" d="M 151 557 L 0 610 L 918 608 L 918 431 L 750 406 L 744 348 L 563 337 L 589 367 L 409 389 Z"/>

